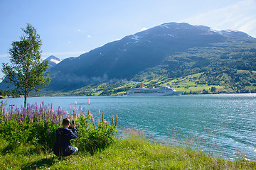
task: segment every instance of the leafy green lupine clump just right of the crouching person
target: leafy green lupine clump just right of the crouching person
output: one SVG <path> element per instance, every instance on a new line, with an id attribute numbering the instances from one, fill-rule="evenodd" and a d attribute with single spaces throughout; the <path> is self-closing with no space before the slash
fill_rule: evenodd
<path id="1" fill-rule="evenodd" d="M 73 107 L 73 113 L 75 113 L 76 108 Z M 85 116 L 85 111 L 82 111 L 80 118 L 76 119 L 76 128 L 78 129 L 78 137 L 73 141 L 74 145 L 80 150 L 85 152 L 90 152 L 94 154 L 97 150 L 105 149 L 108 147 L 115 139 L 115 132 L 117 128 L 117 115 L 114 120 L 114 115 L 112 115 L 112 121 L 104 119 L 103 113 L 100 113 L 95 125 L 95 119 L 93 118 L 90 111 L 87 112 Z"/>

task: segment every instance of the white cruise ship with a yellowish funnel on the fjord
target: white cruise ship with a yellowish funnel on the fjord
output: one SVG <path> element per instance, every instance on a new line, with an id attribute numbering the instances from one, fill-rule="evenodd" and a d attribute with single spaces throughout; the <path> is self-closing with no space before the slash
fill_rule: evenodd
<path id="1" fill-rule="evenodd" d="M 127 96 L 180 96 L 184 91 L 176 91 L 169 86 L 161 86 L 159 88 L 140 88 L 127 91 Z"/>

